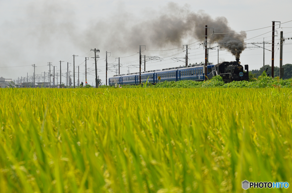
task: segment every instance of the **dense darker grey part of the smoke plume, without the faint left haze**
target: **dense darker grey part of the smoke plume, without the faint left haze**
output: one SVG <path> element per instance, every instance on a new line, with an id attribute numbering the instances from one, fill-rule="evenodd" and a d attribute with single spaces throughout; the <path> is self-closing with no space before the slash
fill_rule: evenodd
<path id="1" fill-rule="evenodd" d="M 187 6 L 168 3 L 166 8 L 158 13 L 152 13 L 151 19 L 145 17 L 142 21 L 135 21 L 127 12 L 119 12 L 118 15 L 107 19 L 107 22 L 97 22 L 86 30 L 87 41 L 81 44 L 85 47 L 87 42 L 95 42 L 101 47 L 118 52 L 137 51 L 138 45 L 147 45 L 151 49 L 167 49 L 204 38 L 205 25 L 213 27 L 215 33 L 235 32 L 228 26 L 225 17 L 213 19 L 203 11 L 195 13 Z M 212 33 L 213 29 L 208 29 L 208 35 Z M 226 46 L 236 58 L 239 58 L 244 50 L 242 45 L 245 38 L 245 32 L 215 34 L 208 37 L 208 42 L 230 42 L 229 45 L 222 46 Z"/>

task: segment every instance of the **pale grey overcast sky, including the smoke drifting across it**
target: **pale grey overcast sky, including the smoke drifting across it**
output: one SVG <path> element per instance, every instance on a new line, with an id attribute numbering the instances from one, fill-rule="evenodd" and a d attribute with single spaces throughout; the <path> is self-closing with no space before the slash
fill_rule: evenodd
<path id="1" fill-rule="evenodd" d="M 263 44 L 251 43 L 272 40 L 272 21 L 275 26 L 275 66 L 279 66 L 279 36 L 283 31 L 283 64 L 292 63 L 292 20 L 289 1 L 99 1 L 99 0 L 0 0 L 0 77 L 17 79 L 32 76 L 35 64 L 36 82 L 48 82 L 49 66 L 55 66 L 60 82 L 66 85 L 67 62 L 69 75 L 75 82 L 85 84 L 85 58 L 87 82 L 95 85 L 94 52 L 99 49 L 98 76 L 105 84 L 106 51 L 108 74 L 139 72 L 139 45 L 144 55 L 157 56 L 159 60 L 146 61 L 146 71 L 183 66 L 188 44 L 188 63 L 204 62 L 204 27 L 214 28 L 214 33 L 233 33 L 221 37 L 208 29 L 208 42 L 226 42 L 233 39 L 246 47 L 241 55 L 241 65 L 249 69 L 263 66 Z M 285 23 L 286 22 L 286 23 Z M 276 23 L 280 24 L 280 23 Z M 280 28 L 279 28 L 280 27 Z M 262 28 L 262 29 L 260 29 Z M 246 31 L 246 32 L 241 32 Z M 228 35 L 228 34 L 227 34 Z M 230 34 L 229 34 L 230 35 Z M 288 37 L 290 38 L 288 40 Z M 227 39 L 226 39 L 227 38 Z M 228 39 L 229 38 L 229 39 Z M 231 38 L 231 39 L 230 39 Z M 233 39 L 232 39 L 233 38 Z M 201 44 L 201 45 L 200 45 Z M 234 61 L 227 47 L 208 44 L 209 62 Z M 265 44 L 265 64 L 271 65 L 271 44 Z M 218 56 L 219 54 L 219 56 Z M 76 55 L 73 59 L 73 55 Z M 142 61 L 142 69 L 144 62 Z M 39 80 L 38 80 L 39 79 Z M 22 80 L 24 82 L 24 79 Z M 51 78 L 51 82 L 53 78 Z M 55 80 L 57 83 L 57 77 Z"/>

